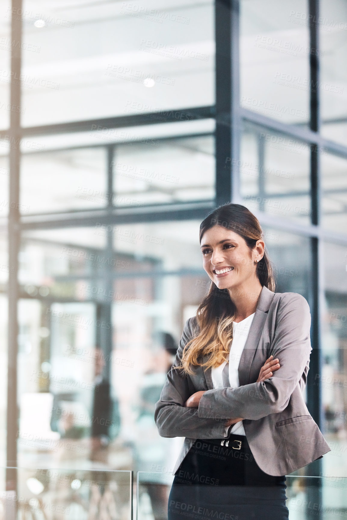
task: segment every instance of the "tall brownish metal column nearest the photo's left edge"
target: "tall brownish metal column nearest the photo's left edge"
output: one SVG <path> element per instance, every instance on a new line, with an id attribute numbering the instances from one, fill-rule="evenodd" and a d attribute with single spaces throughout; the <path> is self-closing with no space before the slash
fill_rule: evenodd
<path id="1" fill-rule="evenodd" d="M 11 11 L 11 74 L 20 77 L 21 71 L 21 0 L 12 0 Z M 19 169 L 20 169 L 20 107 L 19 81 L 10 84 L 10 151 L 9 151 L 9 215 L 8 215 L 8 372 L 7 372 L 7 466 L 17 465 L 17 352 L 18 352 L 18 250 L 19 250 Z M 15 469 L 6 472 L 6 489 L 17 488 Z"/>

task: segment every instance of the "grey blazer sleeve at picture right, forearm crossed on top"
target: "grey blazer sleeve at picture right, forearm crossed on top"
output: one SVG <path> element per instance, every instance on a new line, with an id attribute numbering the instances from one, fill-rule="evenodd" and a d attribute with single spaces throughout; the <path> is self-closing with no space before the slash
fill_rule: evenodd
<path id="1" fill-rule="evenodd" d="M 209 390 L 200 399 L 198 416 L 258 420 L 283 411 L 294 388 L 306 383 L 311 353 L 311 315 L 305 298 L 285 293 L 276 314 L 270 354 L 279 359 L 280 369 L 260 383 L 238 388 Z"/>

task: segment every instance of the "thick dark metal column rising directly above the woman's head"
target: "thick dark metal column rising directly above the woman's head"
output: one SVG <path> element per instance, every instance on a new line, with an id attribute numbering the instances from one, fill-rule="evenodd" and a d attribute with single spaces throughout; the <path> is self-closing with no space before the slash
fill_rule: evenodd
<path id="1" fill-rule="evenodd" d="M 216 0 L 216 204 L 239 202 L 239 1 Z"/>

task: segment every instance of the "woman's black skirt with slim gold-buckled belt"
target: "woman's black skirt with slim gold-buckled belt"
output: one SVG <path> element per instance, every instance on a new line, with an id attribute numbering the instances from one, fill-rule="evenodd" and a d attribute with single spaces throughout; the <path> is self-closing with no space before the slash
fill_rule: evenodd
<path id="1" fill-rule="evenodd" d="M 285 481 L 260 469 L 243 435 L 197 439 L 175 474 L 168 520 L 288 520 Z"/>

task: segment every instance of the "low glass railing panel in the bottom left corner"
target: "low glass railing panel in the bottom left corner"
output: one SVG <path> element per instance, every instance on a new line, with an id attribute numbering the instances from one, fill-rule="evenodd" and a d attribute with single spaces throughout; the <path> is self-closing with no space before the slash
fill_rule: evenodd
<path id="1" fill-rule="evenodd" d="M 0 469 L 0 520 L 132 520 L 132 517 L 131 471 Z"/>

